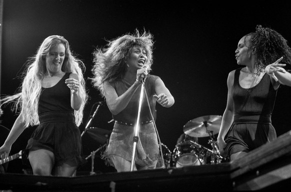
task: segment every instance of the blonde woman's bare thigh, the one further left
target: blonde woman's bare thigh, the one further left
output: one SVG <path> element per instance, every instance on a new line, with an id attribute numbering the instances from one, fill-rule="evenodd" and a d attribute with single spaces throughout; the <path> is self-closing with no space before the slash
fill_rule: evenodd
<path id="1" fill-rule="evenodd" d="M 33 174 L 51 175 L 54 164 L 53 152 L 45 149 L 29 151 L 28 159 L 32 167 Z"/>

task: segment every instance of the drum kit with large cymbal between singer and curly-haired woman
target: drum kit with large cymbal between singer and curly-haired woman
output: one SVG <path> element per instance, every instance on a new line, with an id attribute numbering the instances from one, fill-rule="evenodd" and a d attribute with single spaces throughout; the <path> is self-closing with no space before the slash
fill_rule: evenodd
<path id="1" fill-rule="evenodd" d="M 219 155 L 214 134 L 219 132 L 221 119 L 221 115 L 205 115 L 189 120 L 183 126 L 185 135 L 191 137 L 209 137 L 208 143 L 211 145 L 211 149 L 191 139 L 184 139 L 175 146 L 171 153 L 171 151 L 161 143 L 165 167 L 179 168 L 184 166 L 220 163 L 222 157 Z"/>

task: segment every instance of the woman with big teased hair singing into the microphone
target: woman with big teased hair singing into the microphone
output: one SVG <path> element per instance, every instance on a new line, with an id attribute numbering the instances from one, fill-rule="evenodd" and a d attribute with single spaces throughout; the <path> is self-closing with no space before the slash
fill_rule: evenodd
<path id="1" fill-rule="evenodd" d="M 157 134 L 153 122 L 156 101 L 170 107 L 174 98 L 155 75 L 152 64 L 152 34 L 136 29 L 109 40 L 106 48 L 96 49 L 92 68 L 92 83 L 105 97 L 115 123 L 103 158 L 118 172 L 131 167 L 134 126 L 136 124 L 142 82 L 144 90 L 138 141 L 133 170 L 154 169 L 159 158 Z"/>

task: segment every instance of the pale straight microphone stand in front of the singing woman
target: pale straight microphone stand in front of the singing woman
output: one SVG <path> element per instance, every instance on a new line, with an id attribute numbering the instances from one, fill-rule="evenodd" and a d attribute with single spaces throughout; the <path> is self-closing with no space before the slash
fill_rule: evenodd
<path id="1" fill-rule="evenodd" d="M 140 88 L 137 118 L 136 118 L 136 123 L 135 123 L 135 128 L 134 128 L 130 171 L 133 171 L 133 165 L 134 165 L 134 161 L 135 161 L 135 149 L 136 149 L 136 143 L 138 141 L 137 133 L 138 133 L 138 129 L 139 129 L 139 117 L 140 117 L 140 110 L 141 110 L 141 104 L 142 104 L 142 98 L 143 98 L 143 89 L 144 89 L 144 78 L 141 78 L 141 79 L 142 79 L 142 81 L 141 81 L 141 88 Z"/>

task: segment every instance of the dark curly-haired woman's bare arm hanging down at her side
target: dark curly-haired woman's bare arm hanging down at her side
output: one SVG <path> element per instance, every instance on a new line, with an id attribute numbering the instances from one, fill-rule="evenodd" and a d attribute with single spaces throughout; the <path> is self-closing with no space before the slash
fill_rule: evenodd
<path id="1" fill-rule="evenodd" d="M 234 70 L 229 72 L 227 77 L 227 102 L 226 102 L 226 108 L 222 115 L 222 121 L 219 129 L 219 133 L 217 136 L 217 143 L 219 151 L 223 151 L 223 147 L 225 146 L 224 137 L 227 133 L 228 129 L 230 128 L 232 121 L 233 121 L 233 99 L 232 99 L 232 86 L 233 86 L 233 79 L 234 79 Z"/>

